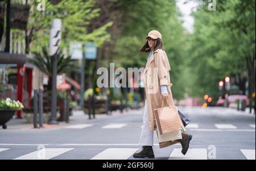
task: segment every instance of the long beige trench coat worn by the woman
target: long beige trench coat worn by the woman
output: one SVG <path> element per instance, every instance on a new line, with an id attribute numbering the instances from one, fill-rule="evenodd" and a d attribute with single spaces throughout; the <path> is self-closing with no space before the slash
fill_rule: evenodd
<path id="1" fill-rule="evenodd" d="M 154 110 L 162 107 L 160 85 L 167 85 L 169 93 L 168 103 L 169 105 L 174 105 L 171 92 L 170 70 L 171 67 L 166 52 L 162 49 L 156 49 L 147 61 L 143 72 L 144 94 L 145 100 L 147 99 L 148 122 L 151 131 L 156 130 Z M 168 104 L 164 102 L 164 106 L 168 106 Z M 159 143 L 159 145 L 160 148 L 163 148 L 175 143 L 177 142 L 166 141 Z"/>

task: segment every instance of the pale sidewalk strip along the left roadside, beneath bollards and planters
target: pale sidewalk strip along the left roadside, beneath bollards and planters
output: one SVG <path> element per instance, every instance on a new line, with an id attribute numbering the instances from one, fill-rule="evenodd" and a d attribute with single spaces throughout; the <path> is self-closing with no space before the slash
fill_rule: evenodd
<path id="1" fill-rule="evenodd" d="M 72 126 L 75 124 L 90 124 L 94 122 L 99 122 L 100 120 L 109 119 L 114 116 L 127 115 L 128 113 L 131 113 L 131 112 L 133 113 L 135 111 L 138 111 L 138 110 L 128 109 L 127 111 L 123 110 L 122 113 L 121 111 L 116 110 L 116 111 L 112 111 L 111 115 L 96 114 L 95 119 L 89 119 L 89 115 L 84 114 L 84 111 L 75 110 L 73 111 L 73 115 L 69 116 L 69 123 L 66 123 L 66 122 L 59 122 L 59 124 L 43 123 L 43 128 L 40 128 L 40 129 L 38 128 L 38 130 L 55 129 L 55 128 Z M 91 117 L 93 118 L 93 115 L 91 115 Z M 26 119 L 17 119 L 15 118 L 15 116 L 13 119 L 7 122 L 6 125 L 7 125 L 7 130 L 35 130 L 33 123 L 27 123 Z M 38 127 L 39 127 L 39 124 L 38 124 Z M 2 126 L 0 130 L 3 130 Z"/>

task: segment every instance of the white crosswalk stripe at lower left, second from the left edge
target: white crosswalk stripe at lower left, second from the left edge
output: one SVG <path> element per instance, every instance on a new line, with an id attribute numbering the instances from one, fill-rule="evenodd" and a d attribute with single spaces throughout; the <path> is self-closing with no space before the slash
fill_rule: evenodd
<path id="1" fill-rule="evenodd" d="M 17 157 L 14 160 L 49 160 L 65 152 L 71 151 L 72 149 L 74 148 L 44 148 L 28 153 L 27 155 Z"/>

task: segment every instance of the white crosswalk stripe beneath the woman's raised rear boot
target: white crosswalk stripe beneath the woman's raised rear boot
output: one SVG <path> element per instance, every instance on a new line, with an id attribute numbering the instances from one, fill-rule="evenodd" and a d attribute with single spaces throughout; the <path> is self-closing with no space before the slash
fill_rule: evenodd
<path id="1" fill-rule="evenodd" d="M 181 153 L 181 148 L 175 148 L 169 160 L 207 160 L 207 149 L 205 148 L 192 148 L 184 156 Z"/>

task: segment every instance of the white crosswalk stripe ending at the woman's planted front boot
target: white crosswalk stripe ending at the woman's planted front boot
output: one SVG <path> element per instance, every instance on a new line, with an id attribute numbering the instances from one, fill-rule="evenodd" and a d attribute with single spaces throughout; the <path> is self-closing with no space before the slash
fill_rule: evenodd
<path id="1" fill-rule="evenodd" d="M 127 160 L 139 148 L 108 148 L 90 160 Z"/>

